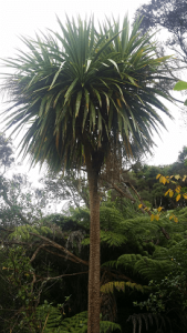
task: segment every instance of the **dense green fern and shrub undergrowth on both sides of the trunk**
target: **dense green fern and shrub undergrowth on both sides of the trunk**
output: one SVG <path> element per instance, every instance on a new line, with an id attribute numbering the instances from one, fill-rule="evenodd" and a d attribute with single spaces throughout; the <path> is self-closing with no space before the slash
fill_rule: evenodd
<path id="1" fill-rule="evenodd" d="M 167 171 L 173 167 L 166 167 Z M 160 169 L 131 171 L 128 182 L 138 185 L 142 174 L 145 184 L 154 186 Z M 112 332 L 108 327 L 120 332 L 117 324 L 129 333 L 138 325 L 143 333 L 146 327 L 153 333 L 185 332 L 187 209 L 175 209 L 178 223 L 168 219 L 170 210 L 150 222 L 138 209 L 138 200 L 134 203 L 113 192 L 107 191 L 101 205 L 102 332 Z M 43 214 L 19 224 L 13 211 L 11 221 L 17 222 L 11 225 L 7 214 L 1 205 L 4 332 L 86 332 L 89 209 L 72 208 L 67 215 Z M 25 210 L 21 216 L 28 218 Z"/>

